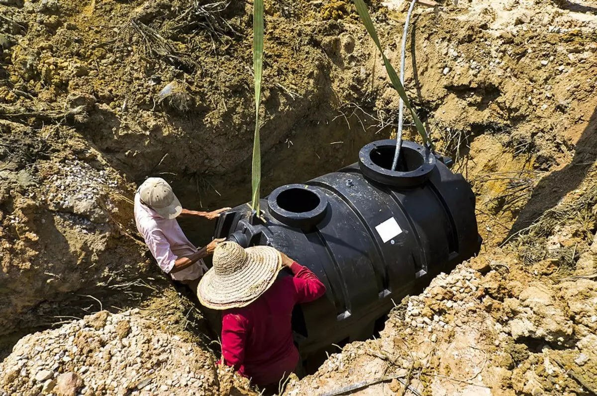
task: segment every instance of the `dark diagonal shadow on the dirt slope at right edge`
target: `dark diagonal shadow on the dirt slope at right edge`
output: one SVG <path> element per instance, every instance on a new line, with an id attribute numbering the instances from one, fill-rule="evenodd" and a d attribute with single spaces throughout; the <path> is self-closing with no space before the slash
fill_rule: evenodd
<path id="1" fill-rule="evenodd" d="M 513 234 L 524 230 L 537 220 L 543 212 L 558 205 L 558 203 L 575 190 L 584 180 L 597 160 L 597 108 L 576 144 L 574 158 L 565 168 L 552 172 L 541 179 L 533 190 L 527 205 L 522 209 L 516 222 L 510 229 L 506 240 Z M 505 242 L 505 240 L 504 240 Z"/>

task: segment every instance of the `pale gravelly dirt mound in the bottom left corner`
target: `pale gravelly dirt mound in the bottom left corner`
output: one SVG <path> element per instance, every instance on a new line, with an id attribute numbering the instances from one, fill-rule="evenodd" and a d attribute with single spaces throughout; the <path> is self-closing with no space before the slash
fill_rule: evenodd
<path id="1" fill-rule="evenodd" d="M 229 370 L 217 372 L 209 351 L 162 332 L 155 321 L 140 317 L 139 310 L 100 311 L 26 336 L 0 364 L 0 394 L 214 395 L 220 386 L 238 391 Z"/>

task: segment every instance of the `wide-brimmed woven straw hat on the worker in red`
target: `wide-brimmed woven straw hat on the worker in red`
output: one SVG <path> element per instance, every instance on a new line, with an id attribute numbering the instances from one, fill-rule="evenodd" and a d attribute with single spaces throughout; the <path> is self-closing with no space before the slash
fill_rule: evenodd
<path id="1" fill-rule="evenodd" d="M 213 310 L 245 307 L 262 295 L 282 268 L 278 250 L 269 246 L 243 249 L 223 242 L 214 251 L 213 267 L 199 281 L 197 296 Z"/>

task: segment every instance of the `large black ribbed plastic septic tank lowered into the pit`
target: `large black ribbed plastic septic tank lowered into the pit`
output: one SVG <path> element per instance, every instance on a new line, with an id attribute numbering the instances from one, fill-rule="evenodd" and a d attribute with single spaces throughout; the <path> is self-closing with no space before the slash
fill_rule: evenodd
<path id="1" fill-rule="evenodd" d="M 376 141 L 361 149 L 358 163 L 276 188 L 261 200 L 262 219 L 245 204 L 216 225 L 216 237 L 282 250 L 327 287 L 324 297 L 294 310 L 303 357 L 370 337 L 393 302 L 479 252 L 467 181 L 445 157 L 408 141 L 398 171 L 390 171 L 395 144 Z"/>

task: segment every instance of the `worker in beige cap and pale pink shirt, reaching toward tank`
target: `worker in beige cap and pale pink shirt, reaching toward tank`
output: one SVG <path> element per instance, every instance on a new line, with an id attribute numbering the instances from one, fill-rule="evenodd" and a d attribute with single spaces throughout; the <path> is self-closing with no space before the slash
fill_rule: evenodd
<path id="1" fill-rule="evenodd" d="M 145 239 L 159 267 L 172 279 L 189 285 L 193 290 L 207 271 L 203 258 L 224 239 L 216 239 L 202 249 L 189 242 L 180 228 L 178 216 L 216 219 L 223 208 L 213 212 L 187 211 L 180 205 L 172 187 L 164 179 L 150 177 L 135 194 L 134 213 L 137 230 Z"/>

